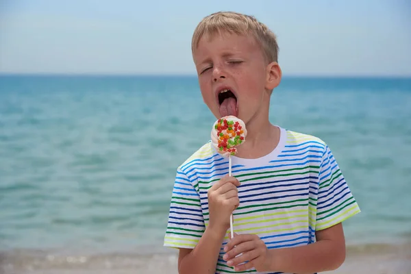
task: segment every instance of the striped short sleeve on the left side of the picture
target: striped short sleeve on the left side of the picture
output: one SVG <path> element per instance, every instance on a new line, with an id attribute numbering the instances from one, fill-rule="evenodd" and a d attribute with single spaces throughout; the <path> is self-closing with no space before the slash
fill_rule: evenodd
<path id="1" fill-rule="evenodd" d="M 177 169 L 164 246 L 193 249 L 205 229 L 199 192 L 186 174 Z"/>

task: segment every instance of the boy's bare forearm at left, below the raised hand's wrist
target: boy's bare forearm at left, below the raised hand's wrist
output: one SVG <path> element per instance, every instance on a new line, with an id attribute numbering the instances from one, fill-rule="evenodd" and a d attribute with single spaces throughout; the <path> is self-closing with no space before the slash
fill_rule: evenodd
<path id="1" fill-rule="evenodd" d="M 194 249 L 179 249 L 178 273 L 216 273 L 225 231 L 207 227 Z"/>

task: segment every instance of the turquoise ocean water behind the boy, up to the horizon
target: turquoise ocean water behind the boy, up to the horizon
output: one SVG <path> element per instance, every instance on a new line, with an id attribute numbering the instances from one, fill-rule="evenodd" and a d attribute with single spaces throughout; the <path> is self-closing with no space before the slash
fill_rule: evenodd
<path id="1" fill-rule="evenodd" d="M 411 79 L 285 77 L 271 121 L 332 149 L 362 210 L 350 247 L 411 242 Z M 1 76 L 0 262 L 167 252 L 175 170 L 212 123 L 196 77 Z"/>

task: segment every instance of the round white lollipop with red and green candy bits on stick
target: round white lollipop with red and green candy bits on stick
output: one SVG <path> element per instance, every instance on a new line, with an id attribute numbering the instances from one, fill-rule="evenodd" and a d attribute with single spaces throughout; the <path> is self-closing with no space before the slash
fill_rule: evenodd
<path id="1" fill-rule="evenodd" d="M 217 120 L 211 131 L 212 145 L 224 157 L 228 157 L 228 175 L 232 175 L 232 155 L 237 153 L 237 147 L 245 142 L 247 129 L 245 123 L 236 116 L 224 116 Z M 229 218 L 231 236 L 234 237 L 233 215 Z"/>

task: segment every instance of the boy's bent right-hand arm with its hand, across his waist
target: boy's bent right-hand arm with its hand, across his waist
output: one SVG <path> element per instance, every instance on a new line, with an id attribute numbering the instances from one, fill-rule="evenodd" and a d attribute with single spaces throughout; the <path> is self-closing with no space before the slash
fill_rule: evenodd
<path id="1" fill-rule="evenodd" d="M 234 236 L 227 244 L 225 260 L 235 271 L 255 267 L 257 271 L 281 271 L 288 273 L 316 273 L 337 269 L 345 260 L 343 225 L 338 223 L 316 232 L 317 241 L 301 247 L 267 249 L 256 235 Z M 234 248 L 233 248 L 234 247 Z M 242 256 L 238 254 L 243 253 Z M 247 262 L 249 261 L 249 262 Z M 238 266 L 242 262 L 247 262 Z"/>

